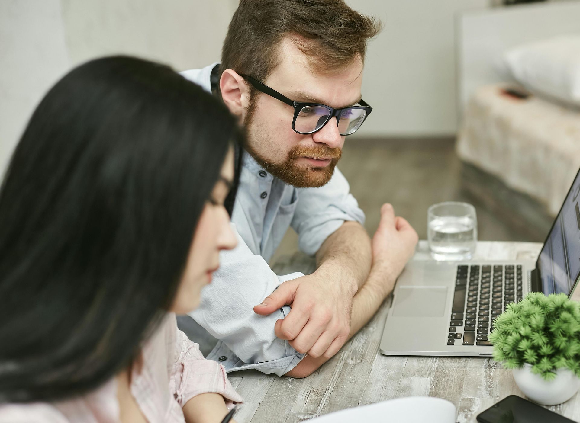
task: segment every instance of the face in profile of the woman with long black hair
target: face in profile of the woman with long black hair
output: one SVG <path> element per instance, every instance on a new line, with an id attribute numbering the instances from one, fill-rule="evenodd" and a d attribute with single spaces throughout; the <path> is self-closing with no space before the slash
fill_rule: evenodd
<path id="1" fill-rule="evenodd" d="M 195 228 L 183 279 L 170 310 L 174 313 L 188 313 L 200 304 L 201 289 L 211 282 L 212 273 L 219 267 L 219 252 L 231 250 L 237 244 L 230 227 L 230 216 L 223 205 L 233 178 L 234 151 L 230 148 L 221 176 L 213 187 Z"/>

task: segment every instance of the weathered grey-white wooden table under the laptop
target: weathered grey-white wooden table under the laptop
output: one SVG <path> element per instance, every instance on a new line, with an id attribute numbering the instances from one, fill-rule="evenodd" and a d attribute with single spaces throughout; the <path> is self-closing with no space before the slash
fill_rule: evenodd
<path id="1" fill-rule="evenodd" d="M 474 260 L 523 260 L 537 257 L 541 244 L 478 242 Z M 420 241 L 413 260 L 429 259 Z M 310 273 L 314 262 L 300 254 L 287 257 L 274 270 Z M 341 351 L 304 379 L 266 375 L 255 370 L 230 374 L 245 399 L 235 415 L 240 423 L 298 422 L 317 415 L 403 396 L 428 395 L 455 404 L 457 421 L 476 422 L 476 416 L 507 395 L 524 396 L 512 371 L 491 358 L 403 357 L 379 353 L 379 342 L 391 297 L 374 318 Z M 580 421 L 580 396 L 548 407 Z"/>

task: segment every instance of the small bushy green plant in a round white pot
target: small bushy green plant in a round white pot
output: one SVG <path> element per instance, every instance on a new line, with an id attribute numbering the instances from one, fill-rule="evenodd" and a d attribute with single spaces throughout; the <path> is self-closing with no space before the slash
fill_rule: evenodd
<path id="1" fill-rule="evenodd" d="M 580 387 L 580 304 L 565 294 L 529 293 L 507 306 L 490 335 L 494 359 L 513 369 L 528 398 L 567 401 Z"/>

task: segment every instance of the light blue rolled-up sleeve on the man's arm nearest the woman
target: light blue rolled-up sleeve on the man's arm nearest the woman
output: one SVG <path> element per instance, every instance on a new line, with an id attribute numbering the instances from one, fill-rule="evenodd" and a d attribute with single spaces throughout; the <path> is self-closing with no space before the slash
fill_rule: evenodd
<path id="1" fill-rule="evenodd" d="M 235 225 L 232 224 L 235 231 Z M 253 254 L 235 231 L 238 245 L 220 253 L 220 268 L 204 288 L 200 307 L 190 313 L 218 345 L 208 358 L 219 360 L 227 371 L 256 369 L 279 376 L 304 357 L 288 341 L 276 337 L 276 320 L 284 319 L 285 306 L 267 316 L 253 311 L 282 282 L 303 276 L 300 272 L 277 276 L 262 256 Z"/>

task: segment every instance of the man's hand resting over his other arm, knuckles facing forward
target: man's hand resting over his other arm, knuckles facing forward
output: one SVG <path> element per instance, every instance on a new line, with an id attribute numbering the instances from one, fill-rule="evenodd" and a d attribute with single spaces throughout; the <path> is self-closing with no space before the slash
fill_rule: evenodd
<path id="1" fill-rule="evenodd" d="M 298 352 L 314 358 L 331 358 L 349 337 L 356 293 L 347 288 L 352 285 L 333 283 L 337 278 L 338 275 L 327 275 L 319 268 L 311 275 L 288 280 L 256 305 L 254 311 L 267 315 L 290 305 L 288 316 L 276 322 L 276 336 L 288 340 Z"/>

